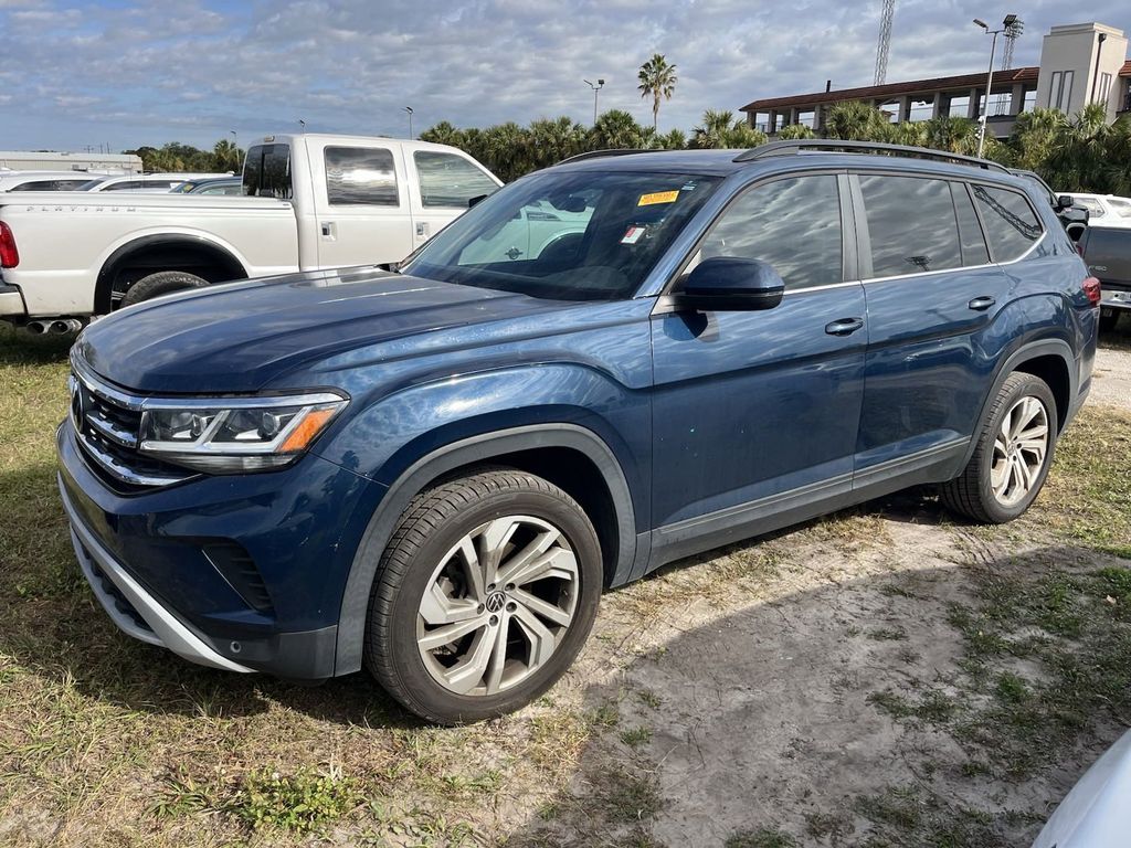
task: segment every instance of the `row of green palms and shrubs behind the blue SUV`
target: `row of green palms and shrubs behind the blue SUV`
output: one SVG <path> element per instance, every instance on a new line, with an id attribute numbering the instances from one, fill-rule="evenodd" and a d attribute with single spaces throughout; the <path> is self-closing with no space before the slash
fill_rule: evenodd
<path id="1" fill-rule="evenodd" d="M 642 84 L 640 87 L 645 88 Z M 658 97 L 654 106 L 658 106 Z M 543 118 L 527 127 L 510 121 L 485 129 L 459 129 L 441 121 L 420 138 L 465 150 L 506 182 L 589 150 L 750 148 L 769 140 L 765 132 L 725 110 L 707 110 L 690 133 L 677 129 L 662 133 L 655 126 L 639 124 L 628 112 L 610 110 L 588 128 L 568 116 Z M 949 115 L 893 123 L 881 110 L 851 102 L 832 106 L 820 132 L 792 124 L 776 136 L 795 138 L 886 141 L 974 156 L 978 123 Z M 1085 106 L 1071 116 L 1034 109 L 1017 116 L 1008 139 L 999 141 L 987 135 L 983 156 L 1010 167 L 1036 171 L 1056 191 L 1131 194 L 1131 115 L 1108 123 L 1099 104 Z"/>

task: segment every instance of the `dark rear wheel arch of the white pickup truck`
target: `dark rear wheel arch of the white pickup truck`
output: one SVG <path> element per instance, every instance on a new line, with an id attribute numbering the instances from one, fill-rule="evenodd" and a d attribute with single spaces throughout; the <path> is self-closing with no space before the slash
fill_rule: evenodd
<path id="1" fill-rule="evenodd" d="M 143 235 L 116 248 L 102 263 L 94 291 L 95 314 L 106 314 L 112 310 L 114 283 L 120 275 L 133 268 L 149 274 L 183 270 L 209 283 L 248 277 L 244 263 L 235 253 L 204 236 L 182 233 Z"/>

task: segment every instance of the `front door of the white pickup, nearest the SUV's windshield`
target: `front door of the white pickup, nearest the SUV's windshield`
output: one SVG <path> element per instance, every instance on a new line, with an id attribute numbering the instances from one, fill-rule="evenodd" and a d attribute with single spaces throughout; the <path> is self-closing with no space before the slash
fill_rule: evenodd
<path id="1" fill-rule="evenodd" d="M 469 200 L 499 188 L 493 176 L 470 157 L 448 150 L 402 148 L 405 170 L 411 174 L 408 192 L 413 205 L 413 250 L 467 211 Z M 526 226 L 516 227 L 521 237 L 515 245 L 527 252 Z"/>

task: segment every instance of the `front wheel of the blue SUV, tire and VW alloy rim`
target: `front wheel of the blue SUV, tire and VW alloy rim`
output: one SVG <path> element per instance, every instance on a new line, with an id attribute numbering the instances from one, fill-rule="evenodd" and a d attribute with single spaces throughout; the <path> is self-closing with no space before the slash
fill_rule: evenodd
<path id="1" fill-rule="evenodd" d="M 530 551 L 527 559 L 539 564 L 519 568 L 518 554 Z M 495 586 L 494 576 L 506 580 L 508 569 L 515 582 Z M 593 628 L 603 579 L 597 534 L 558 486 L 511 469 L 452 479 L 416 496 L 381 556 L 365 666 L 429 721 L 512 712 L 572 664 Z"/>

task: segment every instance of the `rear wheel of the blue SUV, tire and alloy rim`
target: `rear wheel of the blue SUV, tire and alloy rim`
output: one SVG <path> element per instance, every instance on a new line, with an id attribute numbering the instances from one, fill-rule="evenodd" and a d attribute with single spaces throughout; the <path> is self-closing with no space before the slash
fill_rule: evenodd
<path id="1" fill-rule="evenodd" d="M 1030 414 L 1034 417 L 1025 423 Z M 1003 430 L 1007 417 L 1008 432 Z M 1039 432 L 1042 421 L 1044 449 L 1038 458 L 1036 443 L 1041 438 L 1033 434 Z M 1056 400 L 1045 381 L 1021 372 L 1010 374 L 990 405 L 970 461 L 961 475 L 942 486 L 943 504 L 982 523 L 1012 521 L 1029 508 L 1045 483 L 1056 447 Z M 1018 434 L 1029 434 L 1024 440 L 1029 448 Z"/>

